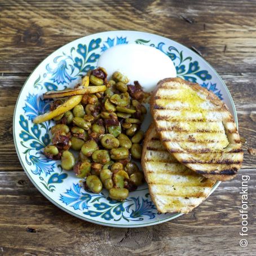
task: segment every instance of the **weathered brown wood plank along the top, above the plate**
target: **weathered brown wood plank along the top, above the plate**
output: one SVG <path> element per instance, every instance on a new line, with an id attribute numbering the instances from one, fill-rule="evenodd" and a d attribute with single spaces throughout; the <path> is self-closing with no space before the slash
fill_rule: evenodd
<path id="1" fill-rule="evenodd" d="M 204 10 L 205 5 L 196 1 L 185 1 L 183 7 L 166 1 L 147 1 L 144 5 L 136 1 L 87 1 L 83 5 L 75 1 L 54 5 L 6 1 L 0 21 L 0 72 L 31 72 L 65 43 L 117 29 L 144 30 L 195 46 L 218 72 L 255 72 L 256 30 L 250 13 L 254 14 L 256 7 L 250 1 L 225 4 L 223 8 L 220 2 L 209 2 Z M 157 22 L 152 23 L 152 19 Z"/>

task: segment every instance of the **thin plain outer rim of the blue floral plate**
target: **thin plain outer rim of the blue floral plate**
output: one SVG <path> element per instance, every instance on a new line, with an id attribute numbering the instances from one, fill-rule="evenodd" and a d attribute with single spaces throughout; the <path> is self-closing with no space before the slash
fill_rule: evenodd
<path id="1" fill-rule="evenodd" d="M 64 48 L 64 47 L 67 47 L 69 44 L 71 43 L 75 43 L 76 41 L 80 41 L 82 38 L 86 38 L 86 37 L 89 37 L 89 36 L 98 36 L 98 35 L 102 35 L 102 34 L 108 34 L 109 32 L 117 32 L 117 33 L 138 33 L 138 34 L 145 34 L 145 35 L 149 35 L 149 36 L 157 36 L 157 37 L 160 37 L 162 39 L 169 39 L 173 42 L 175 42 L 176 44 L 178 44 L 179 46 L 182 46 L 182 47 L 185 47 L 186 50 L 188 50 L 189 52 L 192 52 L 193 54 L 196 54 L 197 57 L 204 61 L 206 65 L 209 66 L 209 68 L 211 70 L 213 70 L 213 72 L 215 73 L 215 75 L 218 77 L 218 79 L 222 82 L 222 85 L 224 86 L 224 88 L 226 89 L 227 91 L 227 95 L 228 95 L 228 98 L 229 100 L 231 101 L 231 105 L 233 107 L 233 111 L 234 111 L 234 114 L 235 116 L 233 116 L 235 122 L 236 122 L 236 126 L 237 126 L 237 129 L 239 128 L 238 127 L 238 121 L 237 121 L 237 112 L 236 112 L 236 107 L 235 107 L 235 103 L 232 99 L 232 96 L 231 96 L 231 93 L 229 92 L 228 90 L 228 87 L 226 85 L 226 83 L 222 80 L 222 78 L 219 76 L 218 72 L 208 63 L 208 61 L 206 61 L 204 58 L 202 58 L 202 56 L 200 56 L 199 54 L 197 54 L 197 52 L 191 50 L 190 48 L 188 48 L 187 46 L 185 45 L 182 45 L 182 43 L 179 43 L 179 42 L 176 42 L 175 40 L 173 39 L 170 39 L 170 38 L 167 38 L 167 37 L 164 37 L 164 36 L 160 36 L 158 34 L 153 34 L 153 33 L 148 33 L 148 32 L 143 32 L 143 31 L 137 31 L 137 30 L 110 30 L 110 31 L 104 31 L 104 32 L 99 32 L 99 33 L 94 33 L 94 34 L 89 34 L 87 36 L 83 36 L 83 37 L 80 37 L 80 38 L 77 38 L 77 39 L 74 39 L 73 41 L 70 41 L 68 43 L 66 43 L 65 45 L 63 46 L 60 46 L 59 48 L 57 48 L 56 50 L 54 50 L 53 52 L 51 52 L 51 54 L 49 54 L 45 59 L 43 59 L 33 70 L 32 72 L 29 74 L 29 76 L 27 77 L 27 79 L 25 80 L 23 86 L 21 87 L 20 89 L 20 92 L 19 92 L 19 96 L 17 97 L 17 100 L 16 100 L 16 104 L 15 104 L 15 108 L 14 108 L 14 117 L 13 117 L 13 120 L 12 120 L 12 127 L 13 127 L 13 131 L 12 131 L 12 134 L 14 136 L 14 145 L 15 145 L 15 150 L 16 150 L 16 153 L 17 153 L 17 156 L 19 158 L 19 161 L 20 161 L 20 164 L 21 166 L 23 167 L 23 170 L 25 172 L 25 174 L 27 174 L 29 180 L 33 183 L 33 185 L 37 188 L 37 190 L 44 196 L 46 197 L 52 204 L 54 204 L 55 206 L 57 206 L 59 209 L 65 211 L 66 213 L 68 214 L 71 214 L 73 215 L 74 217 L 76 218 L 79 218 L 79 219 L 82 219 L 84 221 L 87 221 L 87 222 L 91 222 L 91 223 L 94 223 L 94 224 L 99 224 L 99 225 L 102 225 L 102 226 L 108 226 L 108 227 L 120 227 L 120 228 L 133 228 L 133 227 L 148 227 L 148 226 L 153 226 L 153 225 L 156 225 L 156 224 L 160 224 L 160 223 L 163 223 L 163 222 L 167 222 L 169 220 L 173 220 L 175 218 L 178 218 L 180 216 L 183 215 L 183 213 L 176 213 L 174 215 L 172 215 L 171 217 L 166 217 L 164 219 L 161 219 L 161 220 L 155 220 L 153 222 L 147 222 L 147 223 L 139 223 L 139 224 L 129 224 L 129 225 L 124 225 L 124 224 L 115 224 L 115 223 L 105 223 L 105 222 L 101 222 L 99 220 L 93 220 L 93 219 L 89 219 L 85 216 L 81 216 L 81 215 L 78 215 L 76 213 L 73 213 L 73 211 L 70 211 L 69 209 L 67 208 L 64 208 L 62 205 L 58 204 L 58 202 L 54 201 L 50 196 L 48 196 L 38 185 L 37 183 L 34 181 L 34 179 L 32 178 L 32 176 L 29 174 L 29 171 L 25 168 L 24 164 L 23 164 L 23 161 L 21 161 L 21 156 L 20 156 L 20 153 L 18 151 L 18 146 L 17 146 L 17 142 L 16 142 L 16 134 L 15 134 L 15 117 L 16 117 L 16 109 L 17 109 L 17 104 L 19 102 L 19 99 L 20 99 L 20 95 L 21 93 L 23 92 L 23 89 L 25 87 L 25 85 L 27 84 L 30 76 L 32 76 L 32 74 L 34 73 L 34 71 L 39 67 L 39 65 L 41 65 L 43 62 L 45 62 L 48 58 L 51 57 L 51 55 L 53 55 L 56 51 L 60 50 L 61 48 Z M 209 194 L 209 196 L 215 191 L 215 189 L 217 189 L 220 185 L 220 181 L 216 182 L 213 186 L 213 188 L 211 189 L 211 192 Z M 208 197 L 209 197 L 208 196 Z M 206 198 L 207 199 L 207 198 Z M 156 217 L 157 218 L 157 217 Z"/>

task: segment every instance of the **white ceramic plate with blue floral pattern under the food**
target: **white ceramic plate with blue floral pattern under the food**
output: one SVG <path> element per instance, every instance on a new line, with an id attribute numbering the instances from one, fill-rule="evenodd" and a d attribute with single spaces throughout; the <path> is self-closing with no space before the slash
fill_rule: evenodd
<path id="1" fill-rule="evenodd" d="M 158 214 L 149 196 L 147 185 L 131 192 L 123 202 L 99 195 L 80 187 L 80 179 L 72 171 L 61 170 L 59 161 L 48 160 L 42 149 L 50 143 L 48 134 L 53 122 L 36 125 L 37 115 L 49 108 L 42 94 L 73 86 L 87 70 L 96 66 L 100 54 L 122 43 L 141 43 L 156 47 L 174 61 L 177 74 L 213 91 L 227 105 L 235 121 L 235 105 L 217 72 L 189 48 L 168 38 L 144 32 L 111 31 L 82 37 L 59 48 L 30 74 L 14 111 L 14 142 L 23 169 L 34 186 L 53 204 L 89 222 L 114 227 L 150 226 L 179 217 L 182 214 Z M 156 63 L 157 65 L 157 63 Z M 140 81 L 143 85 L 143 82 Z M 213 191 L 219 186 L 214 186 Z"/>

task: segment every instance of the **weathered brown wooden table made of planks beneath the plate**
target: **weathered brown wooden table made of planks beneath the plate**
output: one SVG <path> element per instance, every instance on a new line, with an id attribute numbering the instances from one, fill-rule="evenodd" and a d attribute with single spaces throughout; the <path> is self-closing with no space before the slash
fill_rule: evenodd
<path id="1" fill-rule="evenodd" d="M 256 147 L 255 1 L 1 0 L 0 10 L 0 255 L 255 255 L 256 157 L 247 152 Z M 17 96 L 38 63 L 79 37 L 125 29 L 199 50 L 226 82 L 247 141 L 236 179 L 192 213 L 145 228 L 98 226 L 52 205 L 25 175 L 12 138 Z M 241 248 L 246 174 L 248 246 Z"/>

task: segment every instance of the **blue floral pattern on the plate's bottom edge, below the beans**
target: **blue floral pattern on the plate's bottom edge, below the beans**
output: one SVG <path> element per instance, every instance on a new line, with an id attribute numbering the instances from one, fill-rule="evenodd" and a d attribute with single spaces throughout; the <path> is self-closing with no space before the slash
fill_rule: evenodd
<path id="1" fill-rule="evenodd" d="M 104 191 L 105 192 L 105 191 Z M 90 191 L 85 191 L 80 184 L 73 184 L 72 188 L 67 189 L 64 194 L 60 195 L 60 201 L 65 205 L 72 207 L 74 210 L 85 210 L 83 214 L 90 217 L 100 217 L 105 220 L 126 222 L 141 221 L 148 217 L 155 218 L 157 210 L 155 205 L 149 200 L 149 194 L 145 193 L 144 197 L 130 197 L 122 202 L 117 202 L 104 195 L 91 195 Z M 135 206 L 135 209 L 132 209 Z M 91 210 L 94 209 L 94 210 Z M 114 218 L 116 216 L 117 218 Z"/>

